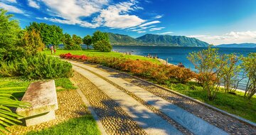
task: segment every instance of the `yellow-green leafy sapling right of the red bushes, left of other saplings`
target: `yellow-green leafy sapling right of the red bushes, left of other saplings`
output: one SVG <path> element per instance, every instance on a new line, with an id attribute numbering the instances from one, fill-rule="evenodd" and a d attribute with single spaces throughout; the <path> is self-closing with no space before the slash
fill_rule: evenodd
<path id="1" fill-rule="evenodd" d="M 203 90 L 208 93 L 208 99 L 213 100 L 220 87 L 221 69 L 225 65 L 224 57 L 218 54 L 218 49 L 208 47 L 207 50 L 189 53 L 188 60 L 198 70 L 198 81 Z"/>

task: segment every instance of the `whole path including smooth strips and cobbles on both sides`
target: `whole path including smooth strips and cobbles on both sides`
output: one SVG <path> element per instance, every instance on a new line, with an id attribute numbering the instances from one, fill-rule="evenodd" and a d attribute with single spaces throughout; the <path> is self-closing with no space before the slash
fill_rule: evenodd
<path id="1" fill-rule="evenodd" d="M 255 126 L 124 73 L 98 65 L 70 63 L 76 71 L 78 87 L 107 134 L 256 133 Z M 94 88 L 86 87 L 88 84 Z"/>

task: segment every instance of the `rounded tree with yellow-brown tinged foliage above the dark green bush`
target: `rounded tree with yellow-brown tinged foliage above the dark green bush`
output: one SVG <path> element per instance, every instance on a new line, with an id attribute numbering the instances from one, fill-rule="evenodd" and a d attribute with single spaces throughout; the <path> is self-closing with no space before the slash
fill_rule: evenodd
<path id="1" fill-rule="evenodd" d="M 40 34 L 35 30 L 25 31 L 23 38 L 21 39 L 21 45 L 24 48 L 26 55 L 36 55 L 45 47 Z"/>

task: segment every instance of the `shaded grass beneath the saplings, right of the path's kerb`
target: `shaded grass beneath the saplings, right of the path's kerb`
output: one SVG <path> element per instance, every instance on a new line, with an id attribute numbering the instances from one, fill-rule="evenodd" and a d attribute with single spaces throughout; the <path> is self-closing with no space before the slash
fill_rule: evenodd
<path id="1" fill-rule="evenodd" d="M 206 102 L 207 104 L 213 105 L 219 109 L 223 109 L 230 114 L 235 114 L 256 122 L 256 96 L 253 96 L 252 99 L 248 100 L 243 97 L 243 92 L 235 92 L 236 95 L 233 95 L 225 93 L 223 89 L 220 89 L 217 93 L 216 99 L 210 101 L 207 98 L 207 92 L 204 91 L 203 87 L 199 86 L 196 82 L 188 82 L 186 85 L 178 83 L 163 86 L 183 95 L 198 99 L 201 102 Z"/>

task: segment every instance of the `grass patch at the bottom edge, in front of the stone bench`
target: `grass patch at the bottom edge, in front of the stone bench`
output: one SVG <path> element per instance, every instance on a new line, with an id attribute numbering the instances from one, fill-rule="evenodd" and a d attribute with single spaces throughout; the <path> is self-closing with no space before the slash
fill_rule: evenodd
<path id="1" fill-rule="evenodd" d="M 97 135 L 100 134 L 97 128 L 96 121 L 91 114 L 85 114 L 85 116 L 75 119 L 70 119 L 61 124 L 55 125 L 42 131 L 31 131 L 27 135 L 55 135 L 55 134 L 86 134 Z"/>

